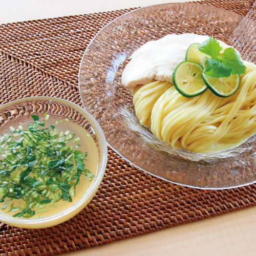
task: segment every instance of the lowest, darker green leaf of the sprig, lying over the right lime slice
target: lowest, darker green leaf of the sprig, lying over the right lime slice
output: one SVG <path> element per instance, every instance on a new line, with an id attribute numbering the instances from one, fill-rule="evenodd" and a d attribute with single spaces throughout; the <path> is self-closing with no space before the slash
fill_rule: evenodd
<path id="1" fill-rule="evenodd" d="M 205 74 L 208 76 L 229 77 L 231 75 L 232 69 L 222 64 L 216 59 L 206 59 L 205 61 Z"/>

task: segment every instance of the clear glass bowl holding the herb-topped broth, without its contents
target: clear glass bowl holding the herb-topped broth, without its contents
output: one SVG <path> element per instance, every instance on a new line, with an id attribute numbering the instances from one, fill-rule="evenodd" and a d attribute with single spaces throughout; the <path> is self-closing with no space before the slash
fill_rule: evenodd
<path id="1" fill-rule="evenodd" d="M 39 117 L 42 117 L 44 113 L 49 114 L 50 117 L 54 117 L 54 119 L 56 118 L 56 120 L 60 118 L 64 120 L 67 118 L 69 119 L 69 123 L 73 122 L 78 124 L 82 128 L 79 130 L 81 131 L 80 136 L 86 136 L 88 133 L 91 135 L 98 151 L 98 154 L 96 151 L 95 158 L 96 161 L 98 158 L 97 169 L 94 170 L 96 177 L 93 179 L 89 189 L 80 200 L 70 207 L 68 205 L 69 202 L 67 202 L 67 208 L 63 209 L 58 214 L 40 219 L 19 219 L 11 217 L 3 211 L 0 211 L 0 220 L 16 227 L 46 228 L 69 220 L 78 214 L 78 212 L 91 201 L 93 196 L 96 194 L 105 173 L 106 161 L 108 159 L 108 148 L 99 124 L 86 110 L 68 100 L 54 97 L 30 97 L 15 100 L 0 106 L 1 136 L 3 136 L 3 133 L 9 126 L 12 126 L 13 124 L 15 125 L 17 122 L 27 122 L 28 117 L 31 115 L 38 115 Z M 30 119 L 32 120 L 32 117 L 30 117 Z M 64 127 L 65 121 L 62 122 L 61 125 Z M 88 154 L 90 154 L 90 152 L 88 152 Z"/>

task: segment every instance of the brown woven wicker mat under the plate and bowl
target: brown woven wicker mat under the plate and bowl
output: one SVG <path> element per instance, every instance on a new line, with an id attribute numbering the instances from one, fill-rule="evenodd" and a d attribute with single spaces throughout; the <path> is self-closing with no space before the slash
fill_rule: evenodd
<path id="1" fill-rule="evenodd" d="M 201 2 L 256 20 L 254 0 Z M 254 4 L 253 4 L 254 3 Z M 105 24 L 130 10 L 0 26 L 0 103 L 54 96 L 81 105 L 78 69 Z M 139 236 L 255 205 L 256 185 L 225 190 L 187 188 L 154 178 L 109 148 L 102 184 L 90 204 L 51 228 L 0 225 L 1 255 L 56 255 Z"/>

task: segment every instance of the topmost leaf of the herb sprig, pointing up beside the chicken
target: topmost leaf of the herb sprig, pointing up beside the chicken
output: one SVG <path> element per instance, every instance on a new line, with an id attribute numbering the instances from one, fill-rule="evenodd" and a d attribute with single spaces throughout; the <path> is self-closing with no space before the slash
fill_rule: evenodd
<path id="1" fill-rule="evenodd" d="M 220 51 L 222 50 L 222 47 L 216 38 L 210 36 L 200 44 L 198 50 L 211 56 L 213 59 L 217 59 L 220 57 Z"/>

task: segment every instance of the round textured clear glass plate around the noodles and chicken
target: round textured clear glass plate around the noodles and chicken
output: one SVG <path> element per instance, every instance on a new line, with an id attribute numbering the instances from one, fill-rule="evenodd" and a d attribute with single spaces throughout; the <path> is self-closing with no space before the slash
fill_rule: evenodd
<path id="1" fill-rule="evenodd" d="M 83 55 L 79 89 L 84 108 L 99 122 L 109 145 L 145 172 L 197 188 L 231 188 L 256 181 L 256 136 L 232 150 L 199 154 L 174 149 L 139 123 L 131 91 L 121 84 L 131 54 L 167 34 L 212 35 L 256 61 L 256 23 L 236 13 L 193 3 L 137 9 L 115 19 Z"/>

